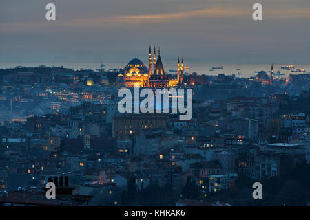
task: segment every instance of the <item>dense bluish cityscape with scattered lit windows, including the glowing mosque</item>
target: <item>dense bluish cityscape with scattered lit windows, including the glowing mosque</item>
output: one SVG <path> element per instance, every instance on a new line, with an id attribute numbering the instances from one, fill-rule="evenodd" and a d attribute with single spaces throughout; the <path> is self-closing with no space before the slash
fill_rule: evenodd
<path id="1" fill-rule="evenodd" d="M 198 76 L 185 73 L 181 59 L 171 75 L 159 50 L 158 56 L 149 52 L 148 67 L 134 58 L 110 71 L 1 71 L 2 205 L 141 205 L 128 199 L 128 186 L 136 186 L 136 197 L 150 198 L 148 190 L 169 188 L 167 195 L 178 196 L 166 205 L 187 198 L 242 205 L 231 193 L 245 188 L 243 182 L 286 182 L 310 164 L 307 74 L 279 80 L 271 65 L 270 76 Z M 121 113 L 118 91 L 136 85 L 139 91 L 192 89 L 192 118 L 180 120 L 172 111 Z M 63 175 L 69 179 L 63 194 L 42 200 L 49 179 L 59 184 Z M 33 199 L 22 199 L 21 191 Z"/>

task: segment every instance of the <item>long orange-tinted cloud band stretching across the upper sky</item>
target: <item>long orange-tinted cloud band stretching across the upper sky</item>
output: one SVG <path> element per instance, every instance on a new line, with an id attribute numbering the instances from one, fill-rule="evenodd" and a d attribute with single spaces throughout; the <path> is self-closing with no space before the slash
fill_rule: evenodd
<path id="1" fill-rule="evenodd" d="M 191 21 L 192 19 L 251 19 L 253 10 L 251 7 L 228 5 L 212 6 L 199 10 L 185 10 L 180 12 L 165 12 L 154 14 L 123 14 L 116 16 L 92 15 L 87 17 L 58 19 L 54 23 L 48 23 L 51 27 L 116 27 L 117 25 L 141 24 L 141 23 L 167 23 L 178 21 Z M 310 18 L 310 8 L 263 8 L 263 20 L 268 19 L 298 19 Z M 0 32 L 9 28 L 44 28 L 47 21 L 22 21 L 18 23 L 0 24 Z"/>

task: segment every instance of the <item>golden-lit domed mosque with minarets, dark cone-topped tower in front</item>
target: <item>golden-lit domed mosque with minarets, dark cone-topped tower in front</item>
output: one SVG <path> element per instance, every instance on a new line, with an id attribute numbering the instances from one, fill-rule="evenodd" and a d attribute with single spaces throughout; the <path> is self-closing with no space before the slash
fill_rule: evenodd
<path id="1" fill-rule="evenodd" d="M 138 85 L 139 87 L 168 88 L 183 85 L 183 58 L 181 63 L 178 59 L 177 72 L 178 74 L 176 77 L 165 74 L 163 62 L 161 61 L 161 50 L 158 49 L 158 57 L 156 58 L 155 47 L 152 54 L 151 46 L 149 46 L 149 68 L 147 69 L 141 60 L 134 58 L 127 64 L 123 71 L 118 74 L 118 82 L 124 84 L 125 87 L 134 87 Z"/>

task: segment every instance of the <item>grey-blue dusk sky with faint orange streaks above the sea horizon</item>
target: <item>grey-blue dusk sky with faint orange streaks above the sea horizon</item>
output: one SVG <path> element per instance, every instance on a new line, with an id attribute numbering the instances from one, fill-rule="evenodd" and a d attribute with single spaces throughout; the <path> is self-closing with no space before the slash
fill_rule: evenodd
<path id="1" fill-rule="evenodd" d="M 56 5 L 56 21 L 45 5 Z M 252 19 L 262 3 L 263 21 Z M 310 63 L 309 0 L 1 0 L 0 63 Z"/>

